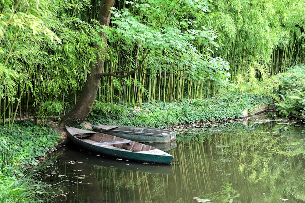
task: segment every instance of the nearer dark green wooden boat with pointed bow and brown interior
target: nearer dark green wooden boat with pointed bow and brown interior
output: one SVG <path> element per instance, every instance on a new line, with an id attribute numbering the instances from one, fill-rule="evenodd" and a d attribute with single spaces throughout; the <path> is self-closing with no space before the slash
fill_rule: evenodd
<path id="1" fill-rule="evenodd" d="M 155 147 L 104 133 L 66 127 L 69 142 L 82 150 L 119 159 L 170 164 L 173 156 Z"/>

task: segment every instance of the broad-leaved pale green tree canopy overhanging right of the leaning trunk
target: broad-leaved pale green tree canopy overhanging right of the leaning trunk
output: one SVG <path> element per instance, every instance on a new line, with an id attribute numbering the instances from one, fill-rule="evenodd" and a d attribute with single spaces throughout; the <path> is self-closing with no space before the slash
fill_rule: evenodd
<path id="1" fill-rule="evenodd" d="M 145 1 L 145 4 L 127 2 L 127 5 L 131 8 L 113 10 L 113 28 L 107 33 L 109 42 L 120 40 L 125 50 L 131 47 L 140 47 L 140 51 L 149 49 L 150 64 L 161 67 L 168 64 L 176 73 L 186 68 L 189 79 L 205 80 L 208 76 L 210 79 L 222 78 L 223 83 L 227 83 L 228 64 L 211 58 L 208 54 L 211 49 L 205 47 L 217 48 L 216 35 L 196 21 L 204 19 L 205 12 L 209 12 L 208 2 L 160 0 Z"/>

